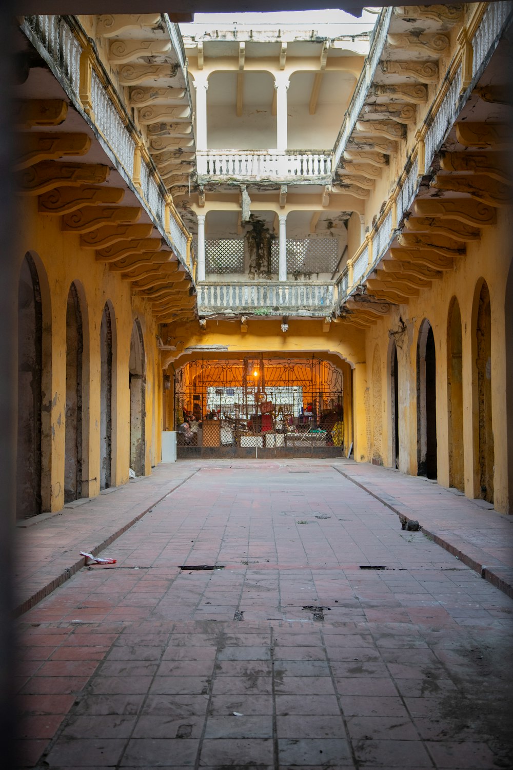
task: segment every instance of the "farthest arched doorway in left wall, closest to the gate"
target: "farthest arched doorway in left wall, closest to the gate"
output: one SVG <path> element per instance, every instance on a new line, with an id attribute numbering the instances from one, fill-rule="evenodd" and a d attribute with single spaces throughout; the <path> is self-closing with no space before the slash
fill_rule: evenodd
<path id="1" fill-rule="evenodd" d="M 136 476 L 145 474 L 145 344 L 142 329 L 136 320 L 132 326 L 130 360 L 128 362 L 130 387 L 130 467 Z"/>

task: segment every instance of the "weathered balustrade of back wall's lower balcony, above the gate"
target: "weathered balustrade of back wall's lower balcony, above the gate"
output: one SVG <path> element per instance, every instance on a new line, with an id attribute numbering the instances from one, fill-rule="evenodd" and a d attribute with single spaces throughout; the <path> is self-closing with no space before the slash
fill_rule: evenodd
<path id="1" fill-rule="evenodd" d="M 248 313 L 260 316 L 286 315 L 328 316 L 335 302 L 334 283 L 294 281 L 278 283 L 200 283 L 198 312 L 200 315 Z"/>

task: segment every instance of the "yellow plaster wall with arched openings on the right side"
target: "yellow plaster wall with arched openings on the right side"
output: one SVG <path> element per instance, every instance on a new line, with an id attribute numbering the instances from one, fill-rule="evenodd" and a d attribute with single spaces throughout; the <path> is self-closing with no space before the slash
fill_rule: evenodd
<path id="1" fill-rule="evenodd" d="M 479 465 L 476 443 L 478 430 L 475 394 L 475 305 L 482 280 L 488 284 L 491 300 L 491 391 L 492 424 L 495 446 L 495 508 L 509 511 L 508 440 L 506 432 L 505 360 L 505 290 L 511 265 L 511 210 L 498 209 L 496 226 L 482 229 L 481 241 L 467 243 L 467 255 L 454 269 L 434 280 L 431 289 L 421 289 L 408 304 L 397 306 L 389 316 L 371 326 L 366 334 L 366 359 L 373 360 L 375 347 L 381 354 L 382 452 L 385 465 L 391 466 L 391 393 L 389 381 L 389 330 L 405 323 L 405 333 L 398 339 L 400 470 L 417 474 L 417 344 L 421 323 L 431 323 L 436 347 L 436 410 L 438 482 L 449 484 L 448 438 L 448 313 L 455 296 L 461 311 L 463 368 L 463 434 L 465 494 L 479 497 L 476 469 Z M 511 324 L 511 310 L 508 323 Z M 511 387 L 511 383 L 509 383 Z"/>

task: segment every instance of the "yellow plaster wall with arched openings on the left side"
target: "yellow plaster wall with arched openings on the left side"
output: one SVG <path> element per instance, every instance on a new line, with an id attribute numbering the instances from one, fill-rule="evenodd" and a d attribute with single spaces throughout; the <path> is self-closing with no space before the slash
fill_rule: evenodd
<path id="1" fill-rule="evenodd" d="M 144 300 L 131 296 L 130 284 L 82 249 L 79 236 L 62 232 L 58 216 L 39 215 L 35 197 L 25 197 L 18 220 L 18 264 L 25 253 L 35 259 L 43 306 L 43 510 L 64 504 L 66 303 L 72 282 L 78 287 L 84 336 L 82 496 L 99 491 L 100 464 L 100 325 L 105 303 L 112 309 L 112 485 L 128 480 L 130 394 L 128 358 L 132 324 L 142 326 L 146 358 L 145 473 L 160 460 L 162 369 L 155 321 Z"/>

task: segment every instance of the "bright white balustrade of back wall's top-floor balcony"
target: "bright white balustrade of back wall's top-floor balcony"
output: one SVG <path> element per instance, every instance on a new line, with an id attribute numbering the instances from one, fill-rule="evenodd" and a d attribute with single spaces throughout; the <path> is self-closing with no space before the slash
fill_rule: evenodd
<path id="1" fill-rule="evenodd" d="M 331 179 L 331 153 L 202 150 L 196 156 L 200 181 L 202 177 L 326 183 Z"/>

